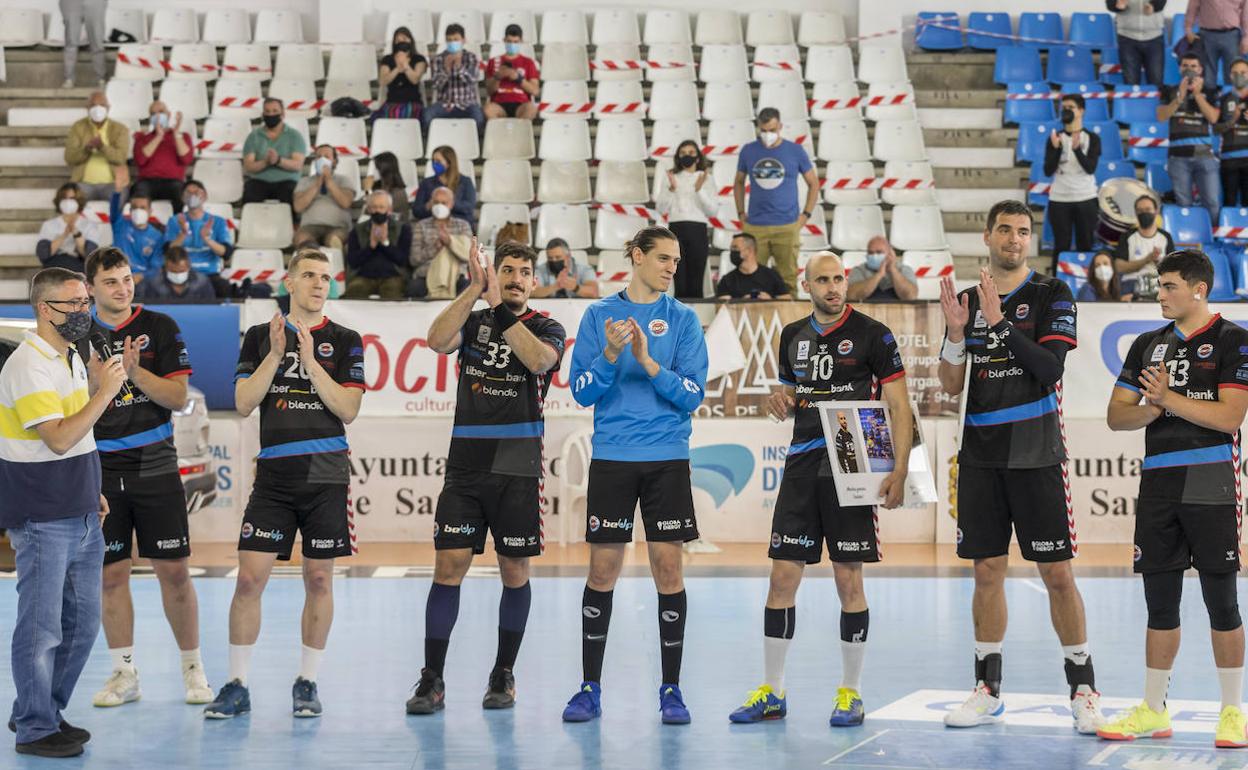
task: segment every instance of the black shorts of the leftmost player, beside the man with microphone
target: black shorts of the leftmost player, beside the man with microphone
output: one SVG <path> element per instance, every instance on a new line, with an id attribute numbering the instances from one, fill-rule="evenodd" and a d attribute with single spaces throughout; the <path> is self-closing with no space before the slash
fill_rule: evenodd
<path id="1" fill-rule="evenodd" d="M 136 539 L 139 555 L 145 559 L 191 555 L 182 477 L 109 474 L 104 478 L 104 497 L 109 500 L 109 515 L 101 525 L 105 564 L 132 558 Z"/>

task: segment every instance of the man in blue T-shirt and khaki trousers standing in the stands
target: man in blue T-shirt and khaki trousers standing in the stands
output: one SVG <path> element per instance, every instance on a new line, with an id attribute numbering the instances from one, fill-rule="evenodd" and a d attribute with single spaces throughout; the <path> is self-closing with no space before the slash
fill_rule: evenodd
<path id="1" fill-rule="evenodd" d="M 780 139 L 780 111 L 759 110 L 759 139 L 741 149 L 736 158 L 733 197 L 736 217 L 758 242 L 760 265 L 775 262 L 789 287 L 797 286 L 797 250 L 801 228 L 819 205 L 819 176 L 810 156 L 799 145 Z M 806 201 L 799 208 L 797 176 L 806 178 Z M 745 210 L 745 180 L 750 180 L 750 210 Z"/>

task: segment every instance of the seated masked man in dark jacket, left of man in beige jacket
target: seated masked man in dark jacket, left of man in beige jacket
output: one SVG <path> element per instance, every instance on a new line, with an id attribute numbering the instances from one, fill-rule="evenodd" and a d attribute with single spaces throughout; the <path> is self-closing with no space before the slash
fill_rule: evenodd
<path id="1" fill-rule="evenodd" d="M 407 288 L 407 260 L 412 251 L 412 227 L 393 213 L 394 202 L 384 190 L 368 195 L 368 218 L 347 237 L 347 291 L 343 300 L 402 300 Z"/>

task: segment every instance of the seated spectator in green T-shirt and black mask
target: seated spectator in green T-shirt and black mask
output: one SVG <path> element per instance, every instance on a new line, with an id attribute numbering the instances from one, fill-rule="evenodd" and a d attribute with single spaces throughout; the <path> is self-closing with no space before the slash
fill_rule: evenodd
<path id="1" fill-rule="evenodd" d="M 242 170 L 247 177 L 242 187 L 243 203 L 276 200 L 290 203 L 295 186 L 303 171 L 308 146 L 303 135 L 286 125 L 286 107 L 281 99 L 266 99 L 265 125 L 247 136 L 242 146 Z M 193 261 L 195 255 L 192 252 Z"/>

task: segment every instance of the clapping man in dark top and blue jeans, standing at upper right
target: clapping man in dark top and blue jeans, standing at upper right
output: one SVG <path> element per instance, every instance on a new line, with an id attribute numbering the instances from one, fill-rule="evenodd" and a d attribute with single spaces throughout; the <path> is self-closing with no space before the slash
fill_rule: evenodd
<path id="1" fill-rule="evenodd" d="M 1193 205 L 1194 182 L 1202 205 L 1209 210 L 1211 221 L 1217 222 L 1222 207 L 1218 158 L 1213 155 L 1213 126 L 1222 115 L 1216 106 L 1218 89 L 1206 85 L 1204 66 L 1196 54 L 1183 54 L 1178 67 L 1182 79 L 1177 86 L 1161 87 L 1161 104 L 1157 106 L 1157 120 L 1169 121 L 1166 170 L 1174 185 L 1178 205 Z"/>

